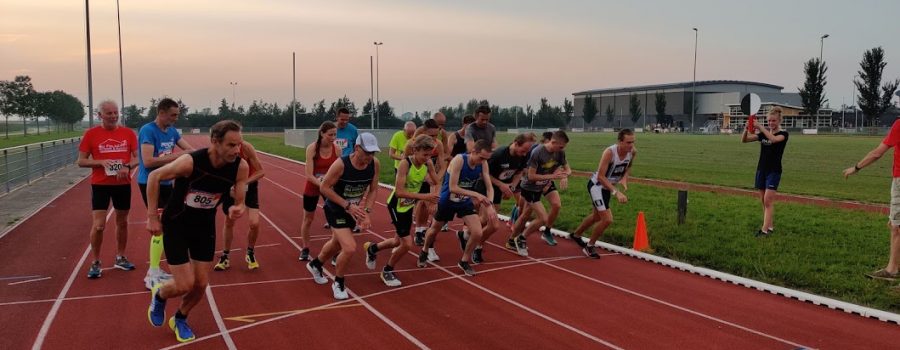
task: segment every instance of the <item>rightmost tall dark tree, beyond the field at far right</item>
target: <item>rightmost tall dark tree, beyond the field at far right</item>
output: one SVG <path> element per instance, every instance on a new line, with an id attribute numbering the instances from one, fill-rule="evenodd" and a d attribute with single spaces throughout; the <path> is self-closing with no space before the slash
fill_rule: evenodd
<path id="1" fill-rule="evenodd" d="M 859 80 L 854 80 L 853 83 L 859 90 L 859 108 L 871 125 L 890 107 L 891 97 L 897 90 L 900 79 L 885 83 L 879 93 L 878 87 L 881 85 L 882 73 L 884 73 L 884 67 L 887 66 L 887 62 L 884 62 L 884 49 L 881 46 L 866 51 L 859 66 Z"/>

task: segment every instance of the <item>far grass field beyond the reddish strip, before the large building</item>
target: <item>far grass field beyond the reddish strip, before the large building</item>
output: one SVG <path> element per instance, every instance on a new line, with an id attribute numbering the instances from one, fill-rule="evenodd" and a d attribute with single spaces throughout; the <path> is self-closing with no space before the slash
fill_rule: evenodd
<path id="1" fill-rule="evenodd" d="M 615 142 L 612 133 L 569 133 L 566 156 L 575 170 L 594 172 L 601 152 Z M 500 144 L 514 135 L 498 134 Z M 791 134 L 779 191 L 871 203 L 890 201 L 893 152 L 850 180 L 841 171 L 853 166 L 881 137 Z M 752 188 L 759 144 L 742 144 L 739 135 L 638 134 L 635 177 Z"/>

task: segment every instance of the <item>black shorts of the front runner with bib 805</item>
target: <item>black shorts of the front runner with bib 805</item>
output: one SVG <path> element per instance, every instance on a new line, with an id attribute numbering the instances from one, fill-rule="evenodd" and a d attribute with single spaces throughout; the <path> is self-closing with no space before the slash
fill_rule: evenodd
<path id="1" fill-rule="evenodd" d="M 163 232 L 166 233 L 163 248 L 169 265 L 181 265 L 189 260 L 212 262 L 216 252 L 215 216 L 163 220 Z"/>

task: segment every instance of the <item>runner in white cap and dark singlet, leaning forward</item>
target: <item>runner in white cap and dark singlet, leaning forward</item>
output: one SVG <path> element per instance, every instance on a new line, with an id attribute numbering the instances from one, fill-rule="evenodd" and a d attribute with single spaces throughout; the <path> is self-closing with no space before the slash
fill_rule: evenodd
<path id="1" fill-rule="evenodd" d="M 356 240 L 351 229 L 357 226 L 368 229 L 371 226 L 368 213 L 369 208 L 375 204 L 375 195 L 378 191 L 380 166 L 375 153 L 379 151 L 375 135 L 359 134 L 354 152 L 341 157 L 340 162 L 334 162 L 328 168 L 320 188 L 325 197 L 325 219 L 331 225 L 332 237 L 322 247 L 319 256 L 306 264 L 306 268 L 312 273 L 316 283 L 328 283 L 322 262 L 338 254 L 334 283 L 331 285 L 334 298 L 338 300 L 349 297 L 344 284 L 344 273 L 356 252 Z M 365 209 L 360 206 L 363 197 L 366 199 Z"/>

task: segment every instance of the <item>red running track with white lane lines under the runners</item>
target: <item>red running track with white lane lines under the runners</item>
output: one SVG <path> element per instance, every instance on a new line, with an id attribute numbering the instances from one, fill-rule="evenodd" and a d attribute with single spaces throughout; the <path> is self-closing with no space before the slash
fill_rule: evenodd
<path id="1" fill-rule="evenodd" d="M 137 270 L 105 269 L 98 280 L 85 278 L 90 261 L 85 180 L 0 238 L 0 349 L 890 349 L 900 344 L 894 324 L 609 252 L 589 260 L 567 240 L 549 247 L 531 237 L 531 257 L 522 258 L 502 247 L 505 228 L 485 247 L 487 262 L 475 266 L 477 276 L 461 275 L 455 266 L 458 242 L 443 233 L 437 243 L 441 262 L 420 269 L 410 255 L 397 266 L 403 286 L 388 288 L 379 270 L 366 269 L 361 248 L 364 241 L 393 234 L 383 206 L 385 189 L 378 193 L 373 230 L 357 237 L 360 248 L 347 275 L 351 299 L 335 301 L 330 286 L 312 282 L 297 261 L 303 166 L 261 158 L 267 173 L 260 186 L 261 268 L 248 271 L 240 249 L 232 252 L 231 269 L 210 273 L 207 297 L 189 318 L 197 340 L 179 344 L 167 328 L 148 324 L 149 293 L 142 282 L 148 239 L 137 186 L 127 250 Z M 323 223 L 317 215 L 314 253 L 330 234 Z M 239 221 L 236 231 L 235 247 L 243 248 L 246 221 Z M 217 243 L 221 249 L 221 237 Z M 114 246 L 108 229 L 104 266 L 111 266 Z M 378 269 L 387 257 L 379 254 Z M 170 302 L 167 315 L 176 304 Z"/>

